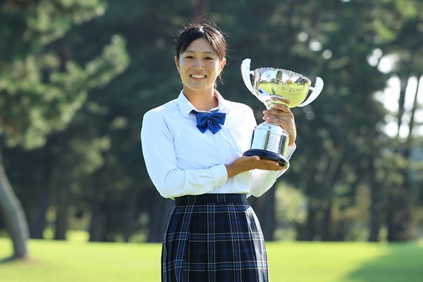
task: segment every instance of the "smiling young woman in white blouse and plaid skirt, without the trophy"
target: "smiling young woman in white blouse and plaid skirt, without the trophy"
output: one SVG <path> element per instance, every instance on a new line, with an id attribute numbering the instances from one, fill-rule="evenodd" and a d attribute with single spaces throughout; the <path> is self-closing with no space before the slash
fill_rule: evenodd
<path id="1" fill-rule="evenodd" d="M 226 40 L 213 23 L 185 27 L 175 56 L 183 90 L 142 121 L 149 176 L 163 197 L 175 200 L 162 281 L 269 281 L 264 238 L 246 199 L 269 190 L 287 167 L 243 157 L 257 123 L 250 107 L 216 90 L 225 56 Z M 288 131 L 289 158 L 296 136 L 289 107 L 277 104 L 263 118 Z"/>

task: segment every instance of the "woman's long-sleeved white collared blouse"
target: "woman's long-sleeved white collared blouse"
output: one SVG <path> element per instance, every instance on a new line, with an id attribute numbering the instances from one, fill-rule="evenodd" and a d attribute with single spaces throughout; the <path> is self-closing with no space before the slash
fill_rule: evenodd
<path id="1" fill-rule="evenodd" d="M 142 154 L 152 182 L 161 196 L 174 198 L 205 193 L 243 193 L 259 197 L 283 171 L 252 170 L 228 178 L 226 164 L 249 149 L 257 125 L 252 109 L 230 102 L 215 91 L 225 124 L 216 134 L 201 133 L 194 106 L 180 92 L 174 99 L 148 111 L 141 128 Z M 214 110 L 214 109 L 212 109 Z M 211 110 L 211 111 L 212 111 Z M 288 159 L 294 147 L 288 147 Z"/>

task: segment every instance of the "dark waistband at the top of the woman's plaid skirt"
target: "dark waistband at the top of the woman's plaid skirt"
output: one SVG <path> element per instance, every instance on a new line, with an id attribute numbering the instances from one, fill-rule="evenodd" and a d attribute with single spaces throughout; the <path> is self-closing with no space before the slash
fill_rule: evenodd
<path id="1" fill-rule="evenodd" d="M 175 197 L 175 204 L 206 204 L 225 202 L 247 202 L 245 194 L 203 194 Z"/>

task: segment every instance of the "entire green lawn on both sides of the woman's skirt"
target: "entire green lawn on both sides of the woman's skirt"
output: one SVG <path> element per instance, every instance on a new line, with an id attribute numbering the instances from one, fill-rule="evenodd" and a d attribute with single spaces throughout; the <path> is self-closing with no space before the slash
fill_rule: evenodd
<path id="1" fill-rule="evenodd" d="M 0 263 L 1 282 L 160 281 L 160 244 L 30 240 L 31 258 Z M 423 244 L 267 243 L 271 281 L 417 282 Z M 11 242 L 0 238 L 0 259 Z"/>

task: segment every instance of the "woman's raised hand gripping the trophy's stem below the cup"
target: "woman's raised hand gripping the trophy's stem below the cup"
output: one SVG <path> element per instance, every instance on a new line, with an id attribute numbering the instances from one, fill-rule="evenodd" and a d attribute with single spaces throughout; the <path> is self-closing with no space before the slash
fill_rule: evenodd
<path id="1" fill-rule="evenodd" d="M 274 98 L 278 101 L 290 104 L 289 100 L 283 98 Z M 293 145 L 297 138 L 297 129 L 295 128 L 295 119 L 293 112 L 286 104 L 271 104 L 271 109 L 263 111 L 264 121 L 281 125 L 288 132 L 289 145 Z"/>

